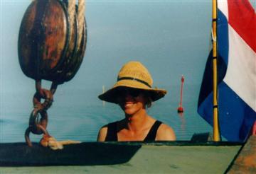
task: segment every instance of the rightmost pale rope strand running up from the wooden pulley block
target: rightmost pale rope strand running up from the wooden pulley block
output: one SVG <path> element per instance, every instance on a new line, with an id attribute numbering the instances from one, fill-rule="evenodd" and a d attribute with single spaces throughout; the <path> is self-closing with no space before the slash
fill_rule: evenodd
<path id="1" fill-rule="evenodd" d="M 82 40 L 82 29 L 85 22 L 85 0 L 78 1 L 78 48 L 80 48 Z"/>

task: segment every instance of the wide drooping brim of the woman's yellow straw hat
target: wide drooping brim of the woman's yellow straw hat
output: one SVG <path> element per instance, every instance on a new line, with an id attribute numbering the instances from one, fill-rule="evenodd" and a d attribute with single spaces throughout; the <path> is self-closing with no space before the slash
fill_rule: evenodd
<path id="1" fill-rule="evenodd" d="M 105 93 L 102 93 L 98 96 L 100 100 L 105 100 L 110 103 L 118 103 L 117 102 L 117 89 L 118 88 L 137 88 L 144 91 L 147 91 L 149 93 L 149 96 L 152 101 L 159 100 L 160 98 L 163 98 L 164 95 L 166 95 L 167 91 L 160 88 L 150 88 L 149 86 L 146 86 L 143 83 L 139 83 L 138 81 L 131 81 L 131 80 L 122 80 L 117 81 L 117 83 L 114 84 L 114 86 L 106 91 Z"/>

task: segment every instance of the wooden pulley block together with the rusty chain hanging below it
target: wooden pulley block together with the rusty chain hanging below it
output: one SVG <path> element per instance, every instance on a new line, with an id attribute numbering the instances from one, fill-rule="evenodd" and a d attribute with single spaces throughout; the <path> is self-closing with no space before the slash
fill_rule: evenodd
<path id="1" fill-rule="evenodd" d="M 85 18 L 80 18 L 81 25 L 77 17 L 78 8 L 74 9 L 74 16 L 70 17 L 67 0 L 35 0 L 21 21 L 18 59 L 23 73 L 36 81 L 34 109 L 25 132 L 28 146 L 32 146 L 30 132 L 50 137 L 46 129 L 47 110 L 53 103 L 53 94 L 58 84 L 73 79 L 82 63 L 87 28 Z M 81 35 L 78 34 L 80 30 Z M 41 88 L 42 79 L 53 81 L 50 90 Z M 44 99 L 43 103 L 41 99 Z"/>

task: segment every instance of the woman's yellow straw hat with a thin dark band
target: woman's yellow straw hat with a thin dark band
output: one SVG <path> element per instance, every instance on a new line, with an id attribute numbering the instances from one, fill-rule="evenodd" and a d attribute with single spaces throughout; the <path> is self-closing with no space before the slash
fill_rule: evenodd
<path id="1" fill-rule="evenodd" d="M 149 93 L 151 100 L 156 101 L 163 98 L 167 91 L 159 88 L 152 88 L 153 79 L 146 67 L 140 62 L 128 62 L 122 66 L 117 76 L 117 83 L 114 86 L 99 95 L 101 100 L 110 103 L 117 103 L 117 89 L 122 87 L 137 88 Z"/>

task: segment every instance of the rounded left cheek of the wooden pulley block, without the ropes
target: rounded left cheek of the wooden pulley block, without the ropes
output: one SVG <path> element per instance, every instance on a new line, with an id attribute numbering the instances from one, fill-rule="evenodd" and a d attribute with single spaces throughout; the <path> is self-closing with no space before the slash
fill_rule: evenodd
<path id="1" fill-rule="evenodd" d="M 32 79 L 48 76 L 64 60 L 69 40 L 68 14 L 60 1 L 32 1 L 21 21 L 18 58 Z"/>

